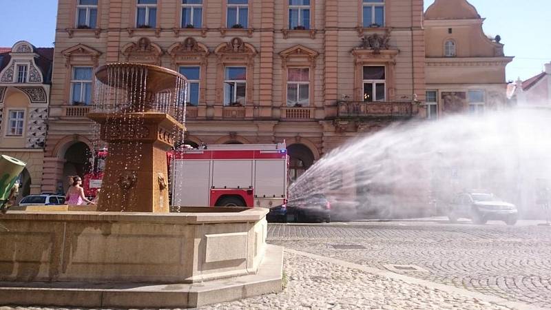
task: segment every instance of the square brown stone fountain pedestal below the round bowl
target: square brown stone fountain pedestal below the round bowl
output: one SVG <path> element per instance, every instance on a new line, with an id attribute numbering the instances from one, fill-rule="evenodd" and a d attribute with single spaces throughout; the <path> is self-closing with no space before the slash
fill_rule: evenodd
<path id="1" fill-rule="evenodd" d="M 167 150 L 174 129 L 185 130 L 169 114 L 90 113 L 109 143 L 98 211 L 169 212 Z"/>

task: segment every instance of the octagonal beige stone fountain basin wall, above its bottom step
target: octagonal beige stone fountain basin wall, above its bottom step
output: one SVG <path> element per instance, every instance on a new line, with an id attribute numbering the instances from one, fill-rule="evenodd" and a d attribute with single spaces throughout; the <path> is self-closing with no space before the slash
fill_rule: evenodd
<path id="1" fill-rule="evenodd" d="M 195 283 L 258 270 L 267 209 L 10 211 L 0 281 Z"/>

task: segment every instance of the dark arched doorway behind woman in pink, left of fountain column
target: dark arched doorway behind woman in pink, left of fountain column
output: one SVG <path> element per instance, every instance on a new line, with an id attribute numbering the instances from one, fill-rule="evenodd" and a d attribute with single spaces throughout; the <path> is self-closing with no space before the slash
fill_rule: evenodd
<path id="1" fill-rule="evenodd" d="M 86 143 L 77 142 L 67 148 L 65 151 L 65 164 L 63 165 L 63 187 L 65 190 L 69 187 L 68 176 L 81 176 L 90 172 L 92 164 L 90 163 L 92 153 Z"/>

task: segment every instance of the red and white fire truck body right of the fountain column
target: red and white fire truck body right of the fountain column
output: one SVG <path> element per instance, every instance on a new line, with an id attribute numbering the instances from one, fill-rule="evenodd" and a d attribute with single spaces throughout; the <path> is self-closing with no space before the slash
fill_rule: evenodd
<path id="1" fill-rule="evenodd" d="M 269 208 L 287 202 L 285 143 L 206 145 L 168 156 L 173 206 Z"/>

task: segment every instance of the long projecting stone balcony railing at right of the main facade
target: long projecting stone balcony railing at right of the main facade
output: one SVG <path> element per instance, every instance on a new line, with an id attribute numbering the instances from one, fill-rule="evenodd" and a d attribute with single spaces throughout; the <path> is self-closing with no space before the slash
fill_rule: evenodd
<path id="1" fill-rule="evenodd" d="M 410 118 L 412 115 L 410 102 L 338 101 L 337 105 L 339 117 Z"/>

